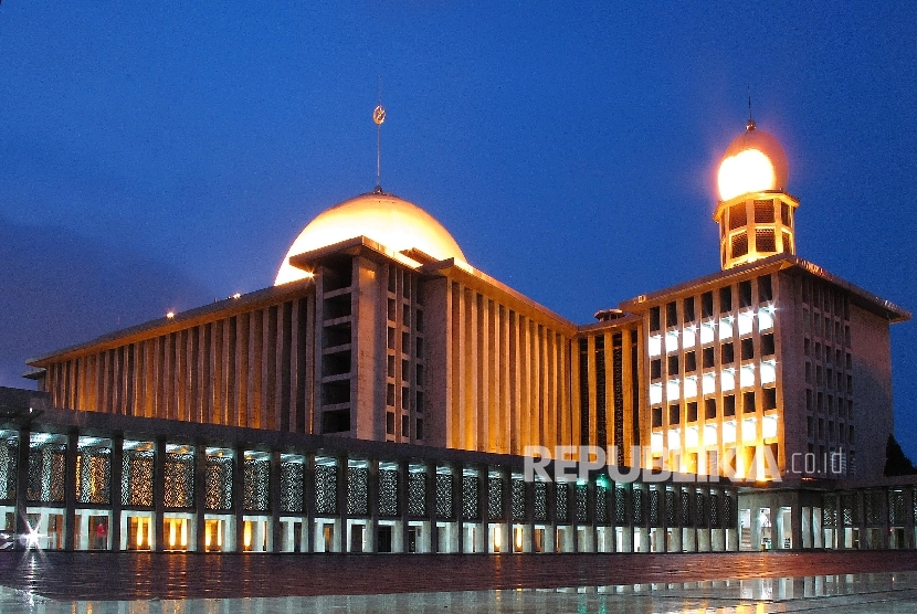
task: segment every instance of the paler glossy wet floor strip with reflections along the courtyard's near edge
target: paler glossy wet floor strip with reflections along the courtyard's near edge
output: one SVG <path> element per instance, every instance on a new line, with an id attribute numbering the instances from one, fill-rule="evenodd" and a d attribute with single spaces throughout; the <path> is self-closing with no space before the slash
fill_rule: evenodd
<path id="1" fill-rule="evenodd" d="M 917 572 L 387 595 L 54 601 L 0 586 L 3 614 L 904 614 Z"/>

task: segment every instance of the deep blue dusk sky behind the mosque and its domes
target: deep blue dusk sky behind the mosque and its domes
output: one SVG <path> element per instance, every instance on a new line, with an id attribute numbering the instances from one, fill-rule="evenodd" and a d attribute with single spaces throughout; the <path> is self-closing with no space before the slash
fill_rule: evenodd
<path id="1" fill-rule="evenodd" d="M 382 186 L 470 262 L 588 322 L 719 267 L 715 168 L 747 118 L 799 255 L 917 309 L 917 3 L 0 6 L 0 384 L 24 359 L 268 286 Z M 917 456 L 917 325 L 893 328 Z"/>

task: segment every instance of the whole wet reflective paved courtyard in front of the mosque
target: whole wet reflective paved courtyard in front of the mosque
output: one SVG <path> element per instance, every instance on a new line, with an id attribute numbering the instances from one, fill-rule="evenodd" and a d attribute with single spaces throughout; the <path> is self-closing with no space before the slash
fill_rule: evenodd
<path id="1" fill-rule="evenodd" d="M 917 612 L 917 552 L 504 557 L 0 552 L 3 614 L 828 610 L 833 614 Z"/>

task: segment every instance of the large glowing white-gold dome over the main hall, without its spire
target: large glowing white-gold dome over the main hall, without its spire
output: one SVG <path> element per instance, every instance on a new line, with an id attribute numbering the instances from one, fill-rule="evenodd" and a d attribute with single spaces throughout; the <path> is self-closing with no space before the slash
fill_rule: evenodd
<path id="1" fill-rule="evenodd" d="M 302 279 L 289 258 L 355 236 L 367 236 L 396 252 L 415 248 L 438 260 L 465 255 L 449 231 L 420 207 L 386 192 L 370 192 L 323 211 L 303 229 L 284 257 L 274 285 Z"/>

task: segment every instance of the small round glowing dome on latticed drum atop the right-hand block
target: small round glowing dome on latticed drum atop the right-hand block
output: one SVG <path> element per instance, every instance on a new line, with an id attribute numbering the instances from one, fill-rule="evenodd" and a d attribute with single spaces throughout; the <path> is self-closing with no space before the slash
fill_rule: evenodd
<path id="1" fill-rule="evenodd" d="M 774 254 L 795 254 L 793 218 L 799 201 L 786 192 L 787 155 L 780 142 L 759 130 L 750 115 L 746 130 L 726 149 L 717 182 L 723 269 Z"/>

